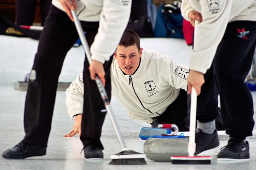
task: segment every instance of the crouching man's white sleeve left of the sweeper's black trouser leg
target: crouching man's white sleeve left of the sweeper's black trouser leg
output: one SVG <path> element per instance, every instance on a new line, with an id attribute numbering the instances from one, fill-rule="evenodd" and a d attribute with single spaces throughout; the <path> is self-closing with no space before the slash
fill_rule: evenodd
<path id="1" fill-rule="evenodd" d="M 73 120 L 77 114 L 83 113 L 84 106 L 84 83 L 83 73 L 79 74 L 74 82 L 72 82 L 66 90 L 66 105 L 68 114 Z"/>

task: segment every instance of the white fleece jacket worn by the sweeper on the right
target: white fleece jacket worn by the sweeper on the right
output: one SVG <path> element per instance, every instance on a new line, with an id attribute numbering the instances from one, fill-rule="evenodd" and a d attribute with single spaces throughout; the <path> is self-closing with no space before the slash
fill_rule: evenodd
<path id="1" fill-rule="evenodd" d="M 182 0 L 181 12 L 186 20 L 189 21 L 188 13 L 194 10 L 201 13 L 203 21 L 197 26 L 189 68 L 205 73 L 211 67 L 227 24 L 256 21 L 256 0 Z"/>

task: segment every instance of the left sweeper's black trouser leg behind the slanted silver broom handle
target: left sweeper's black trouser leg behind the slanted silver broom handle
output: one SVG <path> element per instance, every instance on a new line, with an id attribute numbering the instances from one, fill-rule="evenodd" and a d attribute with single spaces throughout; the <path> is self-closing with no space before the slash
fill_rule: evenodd
<path id="1" fill-rule="evenodd" d="M 113 56 L 110 57 L 109 61 L 104 63 L 105 70 L 105 90 L 111 99 L 111 79 L 110 79 L 110 66 L 112 63 Z M 106 116 L 106 109 L 101 99 L 98 87 L 94 80 L 90 78 L 88 61 L 85 60 L 84 63 L 84 73 L 83 73 L 83 82 L 84 82 L 84 110 L 82 115 L 82 133 L 81 140 L 83 145 L 92 142 L 97 145 L 102 150 L 104 149 L 101 142 L 101 128 Z"/>

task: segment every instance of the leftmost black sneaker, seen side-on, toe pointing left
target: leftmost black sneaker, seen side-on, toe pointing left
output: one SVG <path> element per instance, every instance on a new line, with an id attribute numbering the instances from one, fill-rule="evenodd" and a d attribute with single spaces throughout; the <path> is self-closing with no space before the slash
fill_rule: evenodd
<path id="1" fill-rule="evenodd" d="M 20 142 L 13 148 L 4 151 L 2 157 L 6 159 L 24 159 L 31 156 L 43 156 L 45 154 L 46 147 Z"/>

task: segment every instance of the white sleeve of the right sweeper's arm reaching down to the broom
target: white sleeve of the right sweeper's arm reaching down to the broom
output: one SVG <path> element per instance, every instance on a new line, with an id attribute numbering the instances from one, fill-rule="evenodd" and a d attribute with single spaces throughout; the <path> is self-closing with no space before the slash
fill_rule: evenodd
<path id="1" fill-rule="evenodd" d="M 203 21 L 197 26 L 194 49 L 189 56 L 189 69 L 204 74 L 211 67 L 217 47 L 225 33 L 232 0 L 220 0 L 216 8 L 208 6 L 208 0 L 200 0 L 200 4 Z"/>

